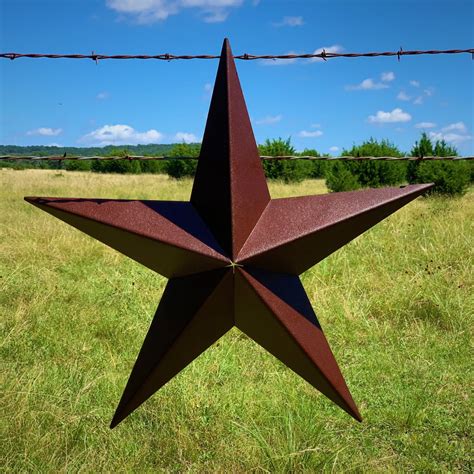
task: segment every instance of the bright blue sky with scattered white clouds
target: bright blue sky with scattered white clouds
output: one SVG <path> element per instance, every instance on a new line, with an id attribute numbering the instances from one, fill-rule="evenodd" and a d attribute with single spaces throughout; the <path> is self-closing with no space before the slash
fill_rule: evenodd
<path id="1" fill-rule="evenodd" d="M 2 52 L 234 54 L 474 46 L 471 0 L 1 0 Z M 470 55 L 237 61 L 257 141 L 337 155 L 420 132 L 474 153 Z M 0 143 L 200 140 L 217 61 L 0 60 Z"/>

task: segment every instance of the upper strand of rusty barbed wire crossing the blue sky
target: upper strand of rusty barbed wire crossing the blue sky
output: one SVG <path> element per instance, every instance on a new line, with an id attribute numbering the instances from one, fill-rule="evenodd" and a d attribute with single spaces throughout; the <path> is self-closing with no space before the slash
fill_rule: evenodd
<path id="1" fill-rule="evenodd" d="M 278 55 L 271 55 L 271 54 L 240 54 L 234 56 L 234 59 L 241 59 L 244 61 L 254 61 L 258 59 L 315 59 L 319 58 L 324 61 L 331 59 L 331 58 L 373 58 L 379 56 L 396 56 L 400 61 L 402 56 L 420 56 L 420 55 L 434 55 L 434 54 L 471 54 L 474 58 L 474 48 L 469 49 L 429 49 L 429 50 L 409 50 L 404 51 L 403 48 L 400 47 L 397 51 L 373 51 L 369 53 L 332 53 L 330 51 L 322 50 L 319 53 L 310 53 L 310 54 L 278 54 Z M 3 59 L 19 59 L 19 58 L 30 58 L 30 59 L 91 59 L 98 63 L 98 61 L 102 61 L 105 59 L 156 59 L 161 61 L 173 61 L 173 60 L 187 60 L 187 59 L 220 59 L 218 55 L 210 55 L 210 54 L 197 54 L 197 55 L 175 55 L 175 54 L 113 54 L 113 55 L 105 55 L 105 54 L 96 54 L 92 51 L 91 54 L 40 54 L 40 53 L 0 53 L 0 58 Z"/>

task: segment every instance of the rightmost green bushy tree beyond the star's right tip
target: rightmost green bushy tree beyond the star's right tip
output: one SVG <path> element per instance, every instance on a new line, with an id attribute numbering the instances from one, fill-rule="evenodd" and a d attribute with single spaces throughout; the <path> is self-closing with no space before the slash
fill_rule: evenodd
<path id="1" fill-rule="evenodd" d="M 433 144 L 423 132 L 419 142 L 411 150 L 412 156 L 456 156 L 455 147 L 447 145 L 444 140 Z M 467 191 L 471 181 L 472 169 L 465 161 L 410 161 L 407 179 L 410 184 L 434 183 L 431 194 L 448 196 L 462 195 Z"/>

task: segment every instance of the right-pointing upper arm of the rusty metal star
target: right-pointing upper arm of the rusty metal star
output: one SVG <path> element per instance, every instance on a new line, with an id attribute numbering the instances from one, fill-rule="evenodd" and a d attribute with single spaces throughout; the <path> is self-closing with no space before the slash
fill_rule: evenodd
<path id="1" fill-rule="evenodd" d="M 432 185 L 274 199 L 237 260 L 300 275 Z"/>

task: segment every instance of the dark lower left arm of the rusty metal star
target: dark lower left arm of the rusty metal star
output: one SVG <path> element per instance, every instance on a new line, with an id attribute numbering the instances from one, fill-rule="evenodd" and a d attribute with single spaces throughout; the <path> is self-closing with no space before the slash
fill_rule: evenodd
<path id="1" fill-rule="evenodd" d="M 234 326 L 233 297 L 228 268 L 168 282 L 111 428 Z"/>

